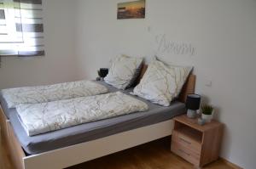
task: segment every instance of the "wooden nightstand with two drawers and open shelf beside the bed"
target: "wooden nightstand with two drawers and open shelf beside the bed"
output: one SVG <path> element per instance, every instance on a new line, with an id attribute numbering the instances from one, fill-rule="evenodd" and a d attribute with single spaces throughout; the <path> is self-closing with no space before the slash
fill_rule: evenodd
<path id="1" fill-rule="evenodd" d="M 171 150 L 195 166 L 218 160 L 224 125 L 212 120 L 203 126 L 197 119 L 179 115 L 174 119 Z"/>

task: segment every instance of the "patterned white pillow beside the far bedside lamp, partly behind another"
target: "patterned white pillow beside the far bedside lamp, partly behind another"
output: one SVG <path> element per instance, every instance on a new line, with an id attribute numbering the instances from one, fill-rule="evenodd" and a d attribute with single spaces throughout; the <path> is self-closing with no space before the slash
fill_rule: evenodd
<path id="1" fill-rule="evenodd" d="M 124 90 L 135 82 L 138 75 L 137 71 L 140 70 L 142 63 L 142 58 L 119 56 L 113 60 L 108 76 L 104 80 L 113 87 Z"/>

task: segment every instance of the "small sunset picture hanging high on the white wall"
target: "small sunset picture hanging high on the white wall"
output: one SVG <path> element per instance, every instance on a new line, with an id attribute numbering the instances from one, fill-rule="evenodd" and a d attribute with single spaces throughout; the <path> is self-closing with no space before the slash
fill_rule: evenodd
<path id="1" fill-rule="evenodd" d="M 145 0 L 118 3 L 118 20 L 143 18 L 145 18 Z"/>

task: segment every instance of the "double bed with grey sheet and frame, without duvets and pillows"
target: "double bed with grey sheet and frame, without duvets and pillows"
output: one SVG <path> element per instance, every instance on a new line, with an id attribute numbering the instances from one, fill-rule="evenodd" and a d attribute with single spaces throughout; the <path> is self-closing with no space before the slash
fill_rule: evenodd
<path id="1" fill-rule="evenodd" d="M 146 69 L 147 66 L 144 65 L 141 76 Z M 111 92 L 117 90 L 114 87 L 108 86 L 108 88 Z M 149 105 L 147 112 L 90 122 L 37 137 L 26 136 L 15 109 L 7 109 L 2 99 L 0 110 L 2 136 L 16 168 L 73 166 L 171 135 L 172 117 L 185 112 L 182 102 L 186 95 L 194 93 L 194 90 L 195 76 L 190 75 L 183 86 L 179 101 L 173 102 L 170 107 L 158 106 L 141 99 Z M 129 92 L 129 90 L 125 91 L 127 94 Z"/>

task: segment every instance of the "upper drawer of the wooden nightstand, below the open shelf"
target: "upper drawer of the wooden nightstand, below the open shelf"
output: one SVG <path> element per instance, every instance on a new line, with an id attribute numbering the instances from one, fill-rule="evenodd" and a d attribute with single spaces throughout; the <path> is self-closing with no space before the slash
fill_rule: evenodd
<path id="1" fill-rule="evenodd" d="M 185 149 L 194 151 L 196 154 L 201 154 L 201 144 L 189 137 L 184 136 L 180 132 L 172 132 L 172 142 L 176 142 L 183 146 Z"/>

